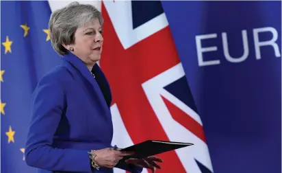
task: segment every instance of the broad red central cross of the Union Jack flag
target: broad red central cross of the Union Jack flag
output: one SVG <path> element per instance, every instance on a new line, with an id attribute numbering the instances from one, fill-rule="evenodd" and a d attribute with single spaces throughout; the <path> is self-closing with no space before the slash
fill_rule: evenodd
<path id="1" fill-rule="evenodd" d="M 112 103 L 117 104 L 129 136 L 133 143 L 147 139 L 169 141 L 142 89 L 143 82 L 179 63 L 169 27 L 125 50 L 103 3 L 102 14 L 105 23 L 100 65 L 110 82 Z M 164 163 L 157 172 L 185 172 L 174 151 L 159 156 Z"/>

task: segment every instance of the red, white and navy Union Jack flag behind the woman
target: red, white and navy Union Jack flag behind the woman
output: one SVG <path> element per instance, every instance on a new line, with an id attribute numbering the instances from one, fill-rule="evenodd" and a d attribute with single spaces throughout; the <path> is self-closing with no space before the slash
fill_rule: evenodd
<path id="1" fill-rule="evenodd" d="M 194 143 L 160 154 L 164 163 L 159 172 L 213 172 L 161 2 L 103 1 L 101 11 L 100 65 L 112 86 L 112 143 L 120 148 L 147 139 Z"/>

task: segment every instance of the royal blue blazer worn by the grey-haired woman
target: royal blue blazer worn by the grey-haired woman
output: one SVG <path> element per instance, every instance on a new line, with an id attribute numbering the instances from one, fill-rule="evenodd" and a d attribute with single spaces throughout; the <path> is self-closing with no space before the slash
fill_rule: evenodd
<path id="1" fill-rule="evenodd" d="M 88 151 L 111 148 L 113 125 L 110 86 L 98 65 L 92 72 L 69 53 L 42 77 L 31 98 L 31 122 L 25 147 L 27 165 L 43 172 L 92 170 Z M 142 172 L 118 163 L 116 168 Z"/>

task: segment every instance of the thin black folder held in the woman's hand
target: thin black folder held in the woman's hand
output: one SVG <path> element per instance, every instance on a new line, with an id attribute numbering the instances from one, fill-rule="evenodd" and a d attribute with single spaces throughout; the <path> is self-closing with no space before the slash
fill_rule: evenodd
<path id="1" fill-rule="evenodd" d="M 148 140 L 142 143 L 138 143 L 127 148 L 123 148 L 120 151 L 133 151 L 135 154 L 124 157 L 123 159 L 137 158 L 143 159 L 145 157 L 153 156 L 155 154 L 161 154 L 163 152 L 168 152 L 170 150 L 176 150 L 178 148 L 183 148 L 186 146 L 192 146 L 193 143 L 183 143 L 174 141 L 157 141 Z"/>

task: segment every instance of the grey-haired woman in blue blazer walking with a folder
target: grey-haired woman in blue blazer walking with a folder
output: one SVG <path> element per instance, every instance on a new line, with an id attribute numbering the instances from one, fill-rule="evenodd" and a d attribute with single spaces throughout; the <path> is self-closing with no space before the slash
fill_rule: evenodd
<path id="1" fill-rule="evenodd" d="M 25 161 L 38 172 L 160 168 L 158 157 L 120 161 L 133 153 L 111 146 L 112 96 L 96 63 L 103 47 L 102 24 L 92 5 L 71 3 L 51 15 L 51 43 L 63 58 L 38 82 L 31 99 Z"/>

